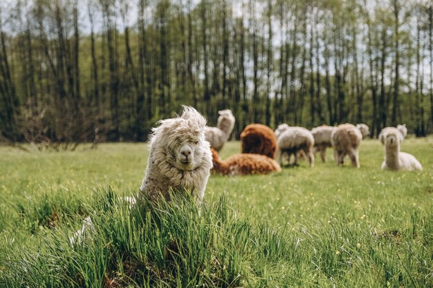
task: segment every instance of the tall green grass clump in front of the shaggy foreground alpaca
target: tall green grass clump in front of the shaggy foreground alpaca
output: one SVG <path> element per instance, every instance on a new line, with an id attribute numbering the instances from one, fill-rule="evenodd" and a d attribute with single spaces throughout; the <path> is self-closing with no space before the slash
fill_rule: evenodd
<path id="1" fill-rule="evenodd" d="M 95 203 L 89 210 L 93 227 L 80 243 L 69 242 L 74 227 L 64 225 L 39 244 L 16 247 L 0 273 L 3 284 L 238 287 L 257 281 L 248 263 L 288 253 L 279 231 L 248 223 L 224 197 L 205 204 L 200 215 L 191 199 L 129 207 L 111 189 Z"/>

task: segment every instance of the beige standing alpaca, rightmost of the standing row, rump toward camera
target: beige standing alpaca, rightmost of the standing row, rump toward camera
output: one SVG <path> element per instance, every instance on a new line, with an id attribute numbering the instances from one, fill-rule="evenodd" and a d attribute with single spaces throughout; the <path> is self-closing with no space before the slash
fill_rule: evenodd
<path id="1" fill-rule="evenodd" d="M 342 165 L 349 155 L 352 165 L 360 168 L 358 147 L 362 142 L 360 129 L 352 124 L 340 124 L 332 134 L 334 157 L 338 165 Z"/>

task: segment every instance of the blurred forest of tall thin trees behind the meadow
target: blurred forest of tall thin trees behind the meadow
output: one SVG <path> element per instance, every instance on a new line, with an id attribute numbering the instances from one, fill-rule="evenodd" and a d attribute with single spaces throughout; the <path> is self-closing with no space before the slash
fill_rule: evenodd
<path id="1" fill-rule="evenodd" d="M 0 142 L 145 141 L 181 104 L 214 126 L 433 132 L 432 2 L 0 3 Z"/>

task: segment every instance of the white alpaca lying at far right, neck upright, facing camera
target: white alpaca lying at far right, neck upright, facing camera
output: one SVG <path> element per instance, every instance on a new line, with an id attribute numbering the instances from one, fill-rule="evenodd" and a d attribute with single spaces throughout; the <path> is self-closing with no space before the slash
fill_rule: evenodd
<path id="1" fill-rule="evenodd" d="M 401 133 L 394 128 L 387 131 L 385 136 L 385 160 L 382 163 L 382 170 L 423 170 L 421 163 L 414 155 L 400 152 Z"/>

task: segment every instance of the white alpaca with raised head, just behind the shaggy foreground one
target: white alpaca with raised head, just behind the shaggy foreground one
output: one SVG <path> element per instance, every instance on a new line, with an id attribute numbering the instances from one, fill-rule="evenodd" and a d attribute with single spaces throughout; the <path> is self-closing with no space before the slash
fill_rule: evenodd
<path id="1" fill-rule="evenodd" d="M 216 151 L 220 151 L 223 148 L 234 127 L 234 116 L 230 109 L 221 110 L 218 113 L 219 117 L 216 127 L 205 126 L 204 129 L 206 140 Z"/>

